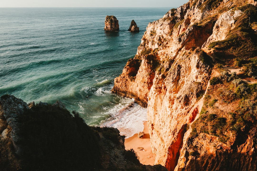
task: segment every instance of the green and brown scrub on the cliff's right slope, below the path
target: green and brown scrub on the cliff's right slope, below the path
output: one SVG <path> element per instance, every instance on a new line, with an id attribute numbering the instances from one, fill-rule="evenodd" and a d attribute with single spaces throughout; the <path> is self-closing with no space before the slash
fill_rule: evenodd
<path id="1" fill-rule="evenodd" d="M 231 146 L 233 139 L 251 136 L 256 140 L 257 84 L 246 84 L 235 73 L 223 72 L 210 80 L 200 117 L 192 125 L 191 136 L 207 133 Z M 223 108 L 230 106 L 229 112 Z M 257 145 L 257 142 L 254 141 Z M 235 145 L 235 144 L 234 144 Z"/>

